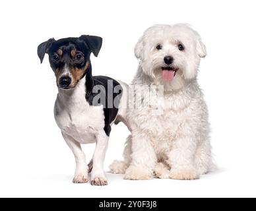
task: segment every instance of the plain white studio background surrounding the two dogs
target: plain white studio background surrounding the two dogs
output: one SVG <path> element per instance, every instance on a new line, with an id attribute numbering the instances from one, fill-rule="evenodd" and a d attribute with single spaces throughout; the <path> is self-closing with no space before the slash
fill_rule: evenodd
<path id="1" fill-rule="evenodd" d="M 256 196 L 255 1 L 1 1 L 0 196 L 176 197 Z M 219 169 L 197 181 L 125 181 L 107 187 L 73 184 L 75 160 L 53 118 L 57 94 L 48 55 L 38 44 L 54 37 L 102 36 L 94 75 L 131 82 L 139 36 L 152 24 L 188 22 L 208 55 L 199 83 L 212 125 Z M 113 127 L 106 171 L 120 159 L 127 129 Z M 94 145 L 85 145 L 90 160 Z"/>

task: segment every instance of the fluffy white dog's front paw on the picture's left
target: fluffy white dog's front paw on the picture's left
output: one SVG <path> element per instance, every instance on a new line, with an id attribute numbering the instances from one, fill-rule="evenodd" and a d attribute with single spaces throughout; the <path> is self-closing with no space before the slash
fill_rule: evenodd
<path id="1" fill-rule="evenodd" d="M 131 179 L 131 180 L 152 179 L 152 173 L 150 170 L 143 169 L 142 167 L 130 166 L 125 172 L 124 179 Z"/>

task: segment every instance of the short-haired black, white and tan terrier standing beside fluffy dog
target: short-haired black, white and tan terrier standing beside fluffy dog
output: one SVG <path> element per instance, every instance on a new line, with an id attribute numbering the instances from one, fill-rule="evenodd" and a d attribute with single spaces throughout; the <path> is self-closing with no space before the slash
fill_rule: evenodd
<path id="1" fill-rule="evenodd" d="M 114 122 L 125 120 L 127 94 L 124 90 L 127 85 L 106 76 L 92 76 L 90 54 L 97 57 L 101 46 L 102 38 L 98 36 L 57 41 L 52 38 L 38 46 L 41 63 L 45 53 L 48 53 L 51 69 L 56 76 L 59 93 L 54 107 L 55 121 L 75 155 L 77 167 L 74 183 L 86 183 L 88 171 L 91 170 L 92 185 L 108 184 L 104 173 L 104 158 L 111 126 Z M 108 87 L 108 81 L 113 82 L 112 88 Z M 101 97 L 104 95 L 105 106 L 101 102 L 100 106 L 94 103 L 94 97 L 98 94 L 94 93 L 96 85 L 105 89 L 99 92 Z M 108 94 L 112 95 L 111 98 Z M 117 101 L 117 107 L 116 102 L 113 104 L 114 100 Z M 94 156 L 87 165 L 80 144 L 94 142 Z"/>

